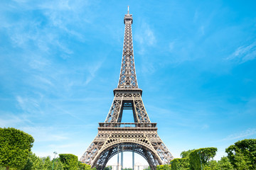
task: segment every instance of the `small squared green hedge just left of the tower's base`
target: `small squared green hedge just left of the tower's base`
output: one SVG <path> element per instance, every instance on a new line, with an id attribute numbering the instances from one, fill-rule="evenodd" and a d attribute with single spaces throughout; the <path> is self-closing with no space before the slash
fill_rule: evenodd
<path id="1" fill-rule="evenodd" d="M 64 170 L 77 170 L 78 157 L 74 154 L 59 154 L 60 162 L 63 163 Z"/>

